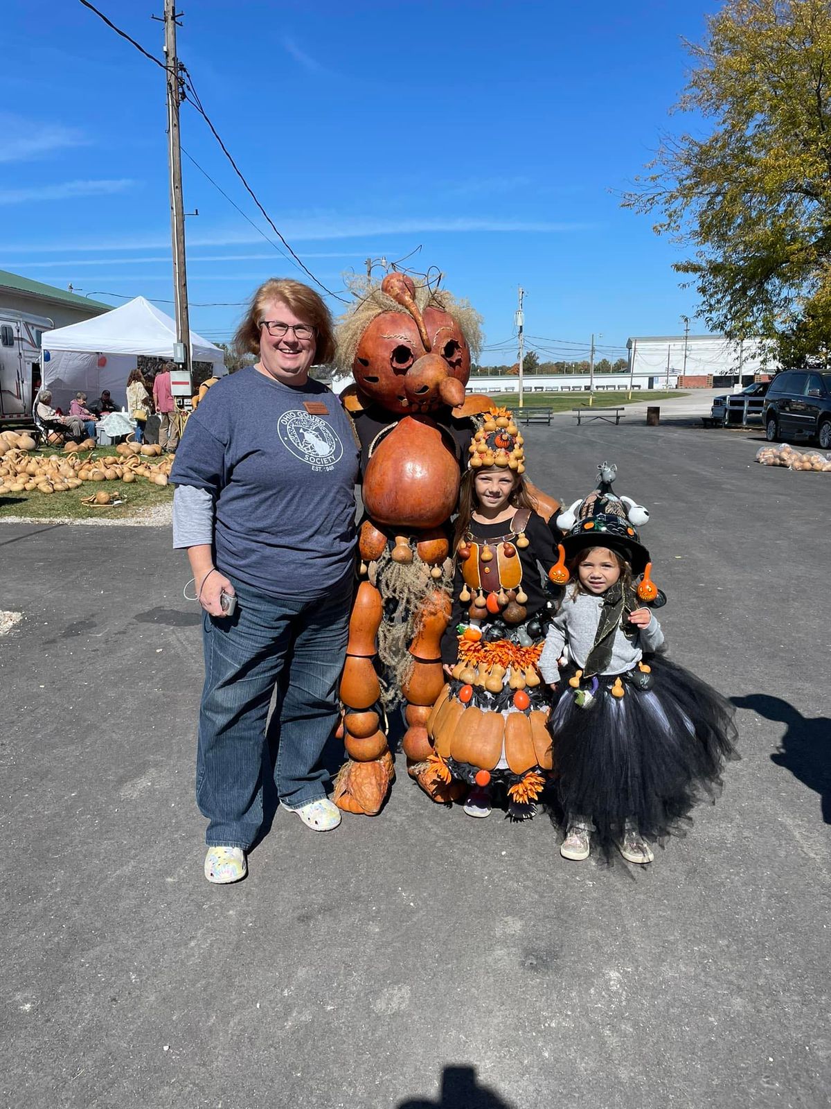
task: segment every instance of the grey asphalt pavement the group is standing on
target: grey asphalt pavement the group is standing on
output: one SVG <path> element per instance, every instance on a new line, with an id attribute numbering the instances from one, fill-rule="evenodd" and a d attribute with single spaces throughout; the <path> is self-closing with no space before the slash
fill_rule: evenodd
<path id="1" fill-rule="evenodd" d="M 617 462 L 673 658 L 740 706 L 721 798 L 640 869 L 401 769 L 375 820 L 278 812 L 208 885 L 184 558 L 166 529 L 0 525 L 0 1105 L 828 1105 L 831 477 L 760 441 L 527 429 L 566 501 Z"/>

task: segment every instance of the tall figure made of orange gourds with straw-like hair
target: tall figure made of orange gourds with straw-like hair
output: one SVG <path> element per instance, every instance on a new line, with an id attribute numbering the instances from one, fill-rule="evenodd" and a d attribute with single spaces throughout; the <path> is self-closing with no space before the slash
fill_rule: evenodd
<path id="1" fill-rule="evenodd" d="M 432 752 L 425 724 L 444 685 L 447 525 L 475 430 L 470 416 L 490 407 L 488 397 L 465 398 L 479 342 L 479 315 L 469 305 L 396 272 L 367 289 L 339 326 L 338 362 L 356 381 L 342 401 L 361 445 L 366 510 L 340 684 L 349 757 L 334 795 L 349 812 L 375 815 L 383 804 L 393 769 L 381 716 L 401 698 L 409 773 L 435 801 L 459 792 L 424 777 Z"/>

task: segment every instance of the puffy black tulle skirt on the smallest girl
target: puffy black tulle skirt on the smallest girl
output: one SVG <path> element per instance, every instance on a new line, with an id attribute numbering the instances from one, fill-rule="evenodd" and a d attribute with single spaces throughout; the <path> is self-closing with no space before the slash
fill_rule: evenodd
<path id="1" fill-rule="evenodd" d="M 694 805 L 720 791 L 725 760 L 738 757 L 730 702 L 664 657 L 648 662 L 650 689 L 620 675 L 624 696 L 615 698 L 615 676 L 603 675 L 588 709 L 578 706 L 567 670 L 551 715 L 561 815 L 591 816 L 605 849 L 626 821 L 649 838 L 679 832 Z"/>

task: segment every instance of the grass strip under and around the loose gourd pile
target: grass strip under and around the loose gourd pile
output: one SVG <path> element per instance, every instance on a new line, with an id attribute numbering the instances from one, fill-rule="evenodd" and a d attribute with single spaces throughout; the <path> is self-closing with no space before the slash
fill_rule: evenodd
<path id="1" fill-rule="evenodd" d="M 79 457 L 96 459 L 112 457 L 114 454 L 112 447 L 99 447 L 90 452 L 84 451 Z M 44 455 L 65 457 L 60 448 L 55 450 L 49 447 L 44 450 L 32 450 L 29 457 L 42 458 Z M 155 458 L 150 460 L 156 461 Z M 91 505 L 81 503 L 84 497 L 90 497 L 102 489 L 111 497 L 122 499 L 124 503 L 113 508 L 92 508 Z M 79 520 L 90 517 L 124 519 L 135 516 L 137 509 L 165 505 L 171 500 L 173 500 L 173 486 L 153 485 L 146 478 L 136 478 L 131 482 L 117 478 L 112 481 L 84 481 L 78 489 L 68 489 L 65 492 L 45 494 L 33 489 L 31 492 L 0 494 L 0 520 L 9 516 L 27 516 L 39 520 L 55 517 Z"/>

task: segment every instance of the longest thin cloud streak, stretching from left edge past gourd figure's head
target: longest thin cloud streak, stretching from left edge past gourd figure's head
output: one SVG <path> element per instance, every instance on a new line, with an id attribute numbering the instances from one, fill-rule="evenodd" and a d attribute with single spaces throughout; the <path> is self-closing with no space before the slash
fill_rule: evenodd
<path id="1" fill-rule="evenodd" d="M 379 240 L 382 236 L 393 235 L 428 235 L 428 234 L 573 234 L 575 232 L 597 231 L 597 223 L 572 222 L 572 221 L 532 221 L 532 220 L 497 220 L 497 218 L 470 218 L 466 216 L 441 218 L 427 216 L 423 218 L 408 220 L 383 220 L 375 216 L 343 216 L 316 215 L 309 217 L 295 217 L 276 220 L 280 231 L 289 243 L 296 246 L 304 242 L 337 242 L 341 238 L 372 238 Z M 244 246 L 248 243 L 261 243 L 263 240 L 250 230 L 217 230 L 214 232 L 194 232 L 187 236 L 187 245 L 191 248 L 199 246 Z M 83 254 L 102 254 L 107 251 L 148 251 L 166 248 L 170 238 L 166 234 L 148 234 L 134 238 L 113 238 L 98 242 L 85 240 L 81 242 L 59 243 L 54 240 L 49 243 L 18 243 L 7 244 L 6 253 L 11 255 L 20 254 L 57 254 L 59 251 L 78 251 Z M 300 251 L 304 256 L 306 251 Z M 353 256 L 349 252 L 346 256 Z M 377 253 L 377 252 L 376 252 Z M 339 254 L 332 254 L 332 257 Z"/>

